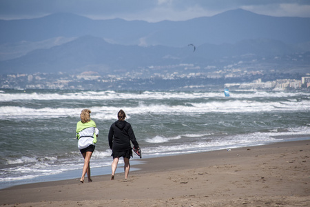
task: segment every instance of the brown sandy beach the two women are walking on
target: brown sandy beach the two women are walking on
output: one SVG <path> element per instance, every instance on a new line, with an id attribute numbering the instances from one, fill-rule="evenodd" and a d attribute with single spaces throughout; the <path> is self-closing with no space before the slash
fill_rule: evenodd
<path id="1" fill-rule="evenodd" d="M 14 186 L 1 206 L 310 206 L 310 140 L 141 159 L 110 175 Z"/>

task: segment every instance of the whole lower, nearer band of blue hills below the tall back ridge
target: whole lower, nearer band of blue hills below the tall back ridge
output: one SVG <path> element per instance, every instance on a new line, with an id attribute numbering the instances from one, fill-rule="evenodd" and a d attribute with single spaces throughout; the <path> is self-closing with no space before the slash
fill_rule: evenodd
<path id="1" fill-rule="evenodd" d="M 102 38 L 84 36 L 61 46 L 39 49 L 17 59 L 0 61 L 1 73 L 16 72 L 83 72 L 90 70 L 112 73 L 114 70 L 131 71 L 139 67 L 167 66 L 182 63 L 200 65 L 230 64 L 238 61 L 262 59 L 296 52 L 280 41 L 256 39 L 236 44 L 203 44 L 192 47 L 122 46 L 107 43 Z M 222 59 L 220 61 L 220 59 Z M 223 61 L 225 59 L 225 61 Z M 220 62 L 220 63 L 216 63 Z M 219 66 L 219 65 L 218 65 Z"/>

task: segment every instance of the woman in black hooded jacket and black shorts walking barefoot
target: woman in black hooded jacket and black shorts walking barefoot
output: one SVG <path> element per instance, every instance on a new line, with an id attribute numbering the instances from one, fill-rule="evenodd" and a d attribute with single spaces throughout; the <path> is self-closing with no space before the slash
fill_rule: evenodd
<path id="1" fill-rule="evenodd" d="M 125 112 L 120 110 L 117 117 L 118 121 L 115 121 L 111 125 L 109 131 L 109 146 L 110 149 L 112 149 L 111 156 L 113 156 L 111 179 L 114 179 L 114 173 L 120 157 L 124 159 L 125 179 L 127 179 L 130 172 L 130 157 L 132 157 L 132 146 L 130 141 L 132 141 L 136 149 L 139 148 L 139 145 L 134 136 L 132 126 L 125 121 Z"/>

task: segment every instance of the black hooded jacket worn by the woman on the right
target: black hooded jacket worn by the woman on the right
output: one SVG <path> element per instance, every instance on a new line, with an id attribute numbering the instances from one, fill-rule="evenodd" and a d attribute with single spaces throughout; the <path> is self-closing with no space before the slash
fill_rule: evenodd
<path id="1" fill-rule="evenodd" d="M 109 146 L 115 151 L 131 150 L 130 141 L 138 148 L 138 142 L 134 136 L 134 130 L 127 121 L 115 121 L 109 131 Z"/>

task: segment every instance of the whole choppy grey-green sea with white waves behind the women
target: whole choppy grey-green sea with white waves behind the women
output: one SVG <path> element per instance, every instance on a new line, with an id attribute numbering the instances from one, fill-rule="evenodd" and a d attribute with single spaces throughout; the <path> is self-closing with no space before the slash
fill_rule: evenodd
<path id="1" fill-rule="evenodd" d="M 107 134 L 123 109 L 145 158 L 310 139 L 310 93 L 285 91 L 0 90 L 0 188 L 79 179 L 76 123 L 99 128 L 92 176 L 111 173 Z M 118 171 L 122 172 L 120 160 Z"/>

